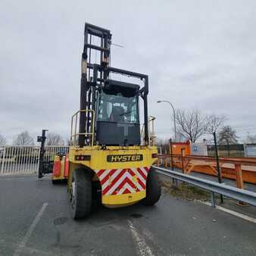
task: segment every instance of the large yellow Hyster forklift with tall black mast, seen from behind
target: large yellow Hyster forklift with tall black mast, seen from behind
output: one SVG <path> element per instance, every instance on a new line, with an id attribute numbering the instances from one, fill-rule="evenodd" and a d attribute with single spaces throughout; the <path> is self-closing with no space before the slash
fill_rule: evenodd
<path id="1" fill-rule="evenodd" d="M 91 213 L 98 194 L 108 208 L 139 201 L 153 205 L 161 196 L 151 168 L 158 151 L 148 134 L 148 75 L 111 67 L 111 36 L 110 30 L 85 24 L 80 111 L 71 118 L 68 153 L 56 155 L 53 164 L 52 180 L 67 179 L 74 219 Z M 123 82 L 122 76 L 139 83 Z M 139 98 L 144 107 L 142 139 Z"/>

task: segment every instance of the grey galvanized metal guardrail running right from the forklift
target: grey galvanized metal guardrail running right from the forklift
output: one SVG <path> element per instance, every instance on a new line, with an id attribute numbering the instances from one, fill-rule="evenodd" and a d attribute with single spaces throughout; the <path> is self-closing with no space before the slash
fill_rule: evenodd
<path id="1" fill-rule="evenodd" d="M 173 170 L 167 170 L 161 167 L 153 166 L 158 173 L 164 174 L 165 176 L 170 176 L 175 180 L 180 180 L 194 186 L 198 186 L 201 189 L 206 189 L 211 191 L 211 204 L 215 207 L 215 197 L 214 193 L 220 195 L 226 195 L 229 198 L 234 198 L 239 201 L 243 201 L 247 204 L 256 206 L 256 193 L 245 189 L 238 189 L 233 186 L 226 185 L 225 183 L 216 183 L 211 180 L 200 179 L 195 176 L 190 176 L 183 173 L 177 173 Z"/>

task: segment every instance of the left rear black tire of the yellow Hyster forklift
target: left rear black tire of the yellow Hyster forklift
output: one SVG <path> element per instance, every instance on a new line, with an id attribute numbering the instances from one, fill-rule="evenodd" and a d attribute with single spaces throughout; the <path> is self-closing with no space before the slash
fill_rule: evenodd
<path id="1" fill-rule="evenodd" d="M 73 219 L 82 219 L 91 212 L 92 176 L 89 170 L 83 168 L 73 170 L 70 203 Z"/>

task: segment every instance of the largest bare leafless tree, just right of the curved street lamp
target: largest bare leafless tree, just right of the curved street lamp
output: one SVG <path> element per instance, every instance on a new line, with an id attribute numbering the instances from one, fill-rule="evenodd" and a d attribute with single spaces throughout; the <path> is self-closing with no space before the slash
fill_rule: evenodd
<path id="1" fill-rule="evenodd" d="M 192 143 L 206 133 L 207 118 L 198 110 L 176 111 L 177 133 Z"/>

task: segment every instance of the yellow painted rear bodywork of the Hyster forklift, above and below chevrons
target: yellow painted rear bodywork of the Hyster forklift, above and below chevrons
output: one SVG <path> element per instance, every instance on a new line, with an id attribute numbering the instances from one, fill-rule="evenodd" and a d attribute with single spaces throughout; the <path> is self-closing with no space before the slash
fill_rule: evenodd
<path id="1" fill-rule="evenodd" d="M 103 149 L 101 146 L 85 146 L 83 148 L 70 146 L 69 161 L 70 161 L 70 172 L 68 187 L 72 182 L 72 171 L 79 167 L 89 167 L 89 169 L 96 172 L 96 170 L 112 170 L 112 169 L 126 169 L 126 168 L 137 168 L 137 167 L 148 167 L 157 160 L 152 158 L 152 154 L 157 154 L 157 148 L 155 146 L 108 146 Z M 76 161 L 76 156 L 90 156 L 89 161 Z M 122 161 L 109 162 L 107 161 L 108 155 L 118 155 L 122 158 L 122 155 L 128 155 L 123 158 Z M 139 160 L 136 156 L 129 157 L 129 155 L 143 155 L 143 159 Z M 116 158 L 114 158 L 116 160 Z M 120 160 L 120 159 L 118 159 Z M 61 164 L 62 165 L 62 164 Z M 93 180 L 98 180 L 98 177 L 93 177 Z M 122 207 L 129 204 L 135 204 L 137 201 L 145 198 L 145 189 L 140 192 L 127 193 L 122 195 L 102 195 L 102 204 L 105 206 L 114 208 Z"/>

